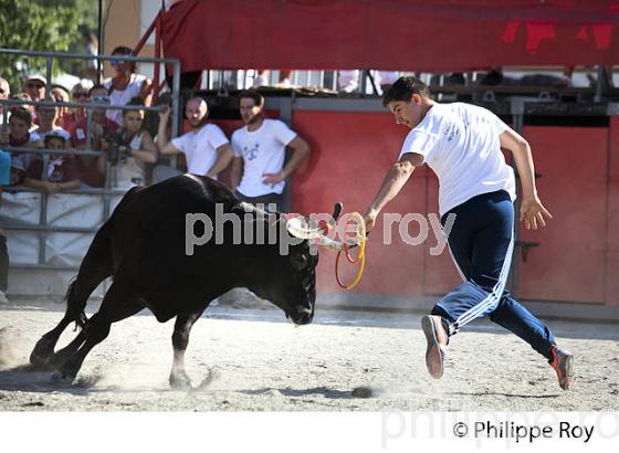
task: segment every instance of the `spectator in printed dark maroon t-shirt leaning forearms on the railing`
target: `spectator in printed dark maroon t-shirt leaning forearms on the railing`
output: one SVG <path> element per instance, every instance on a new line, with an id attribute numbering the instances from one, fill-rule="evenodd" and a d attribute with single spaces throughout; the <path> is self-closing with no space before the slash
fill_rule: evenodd
<path id="1" fill-rule="evenodd" d="M 53 131 L 45 136 L 46 149 L 65 149 L 66 138 L 64 135 Z M 57 193 L 62 190 L 76 189 L 80 187 L 75 158 L 67 155 L 50 155 L 48 165 L 44 159 L 33 160 L 27 169 L 24 186 L 44 191 Z"/>

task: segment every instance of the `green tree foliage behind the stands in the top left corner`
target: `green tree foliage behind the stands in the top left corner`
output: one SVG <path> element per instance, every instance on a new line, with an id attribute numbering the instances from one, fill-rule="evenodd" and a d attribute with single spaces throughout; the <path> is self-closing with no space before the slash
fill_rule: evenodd
<path id="1" fill-rule="evenodd" d="M 97 0 L 1 0 L 0 3 L 0 48 L 3 49 L 84 53 L 81 30 L 96 29 Z M 54 73 L 75 71 L 80 64 L 84 63 L 54 61 Z M 0 75 L 12 87 L 20 87 L 32 72 L 45 73 L 44 57 L 0 54 Z"/>

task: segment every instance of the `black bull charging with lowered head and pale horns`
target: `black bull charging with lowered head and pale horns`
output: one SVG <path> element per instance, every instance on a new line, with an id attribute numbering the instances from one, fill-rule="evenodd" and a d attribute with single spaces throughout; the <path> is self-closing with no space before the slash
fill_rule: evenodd
<path id="1" fill-rule="evenodd" d="M 311 323 L 318 256 L 311 253 L 307 240 L 291 245 L 290 253 L 282 255 L 279 244 L 269 241 L 232 244 L 232 232 L 227 229 L 233 225 L 225 222 L 222 244 L 211 240 L 187 255 L 186 214 L 204 213 L 214 219 L 216 203 L 221 203 L 224 213 L 246 219 L 248 206 L 225 186 L 206 177 L 182 175 L 127 192 L 96 233 L 76 280 L 69 286 L 65 315 L 36 343 L 31 364 L 55 369 L 56 378 L 73 380 L 90 350 L 107 337 L 112 323 L 147 307 L 161 323 L 176 316 L 170 384 L 187 386 L 183 355 L 191 327 L 212 299 L 233 287 L 250 288 L 282 308 L 296 324 Z M 273 215 L 251 212 L 256 228 L 273 222 Z M 276 214 L 275 222 L 281 221 Z M 99 310 L 87 319 L 86 302 L 108 276 L 113 284 Z M 81 331 L 54 352 L 59 337 L 73 322 L 82 327 Z"/>

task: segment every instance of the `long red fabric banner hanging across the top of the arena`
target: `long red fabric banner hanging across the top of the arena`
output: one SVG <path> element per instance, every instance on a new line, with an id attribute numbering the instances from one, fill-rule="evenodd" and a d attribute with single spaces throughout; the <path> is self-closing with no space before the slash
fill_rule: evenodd
<path id="1" fill-rule="evenodd" d="M 183 72 L 610 65 L 619 0 L 183 0 L 162 39 Z"/>

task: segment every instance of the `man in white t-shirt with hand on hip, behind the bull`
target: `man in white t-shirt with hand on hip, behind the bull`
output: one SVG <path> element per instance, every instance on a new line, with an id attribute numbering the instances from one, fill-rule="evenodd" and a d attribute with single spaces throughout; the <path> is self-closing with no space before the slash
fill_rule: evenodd
<path id="1" fill-rule="evenodd" d="M 310 146 L 284 122 L 264 117 L 264 97 L 255 89 L 241 92 L 239 106 L 245 126 L 232 134 L 232 189 L 243 201 L 287 210 L 286 178 L 308 156 Z M 286 147 L 292 155 L 284 162 Z"/>

